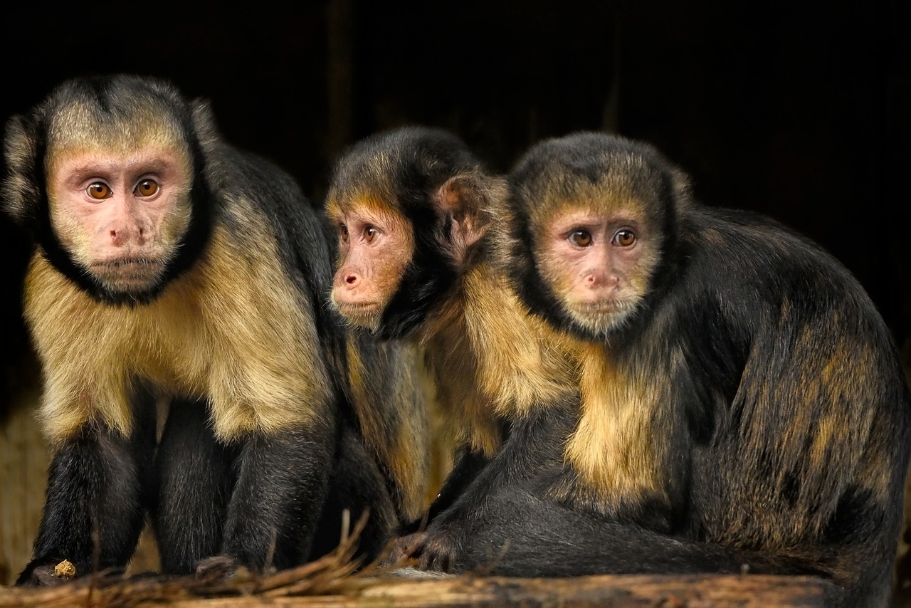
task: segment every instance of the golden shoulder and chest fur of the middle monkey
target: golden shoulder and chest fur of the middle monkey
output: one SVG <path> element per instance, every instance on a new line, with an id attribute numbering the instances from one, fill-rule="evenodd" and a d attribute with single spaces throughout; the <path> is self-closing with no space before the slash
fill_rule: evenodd
<path id="1" fill-rule="evenodd" d="M 462 277 L 418 342 L 455 442 L 488 457 L 500 446 L 500 420 L 577 390 L 561 339 L 527 314 L 489 263 Z"/>

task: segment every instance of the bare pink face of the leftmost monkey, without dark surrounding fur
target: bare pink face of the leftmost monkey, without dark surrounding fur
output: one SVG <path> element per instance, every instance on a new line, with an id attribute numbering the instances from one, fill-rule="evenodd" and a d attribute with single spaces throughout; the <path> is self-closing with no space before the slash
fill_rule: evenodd
<path id="1" fill-rule="evenodd" d="M 48 192 L 55 232 L 115 293 L 159 281 L 189 224 L 189 167 L 173 150 L 57 154 Z"/>

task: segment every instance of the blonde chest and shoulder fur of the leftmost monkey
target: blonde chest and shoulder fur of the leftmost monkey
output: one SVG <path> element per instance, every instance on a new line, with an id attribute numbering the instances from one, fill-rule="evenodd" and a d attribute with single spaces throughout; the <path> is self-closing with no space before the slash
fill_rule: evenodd
<path id="1" fill-rule="evenodd" d="M 128 434 L 137 379 L 165 395 L 209 397 L 221 439 L 306 424 L 328 397 L 327 372 L 312 311 L 271 262 L 269 242 L 244 248 L 216 227 L 200 261 L 137 306 L 98 304 L 36 253 L 25 312 L 47 436 L 92 420 Z"/>

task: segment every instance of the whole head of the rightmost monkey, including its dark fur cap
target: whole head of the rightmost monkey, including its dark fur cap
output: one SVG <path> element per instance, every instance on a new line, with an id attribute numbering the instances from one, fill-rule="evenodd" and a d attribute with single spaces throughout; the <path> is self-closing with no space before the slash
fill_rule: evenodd
<path id="1" fill-rule="evenodd" d="M 630 326 L 669 267 L 684 180 L 648 147 L 577 134 L 529 149 L 509 181 L 510 261 L 526 304 L 590 339 Z"/>

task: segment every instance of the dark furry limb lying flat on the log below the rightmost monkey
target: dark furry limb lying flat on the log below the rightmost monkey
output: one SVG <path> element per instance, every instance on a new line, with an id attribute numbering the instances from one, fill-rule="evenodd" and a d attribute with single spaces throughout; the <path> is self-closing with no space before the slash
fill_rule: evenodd
<path id="1" fill-rule="evenodd" d="M 526 489 L 503 489 L 487 502 L 465 535 L 456 571 L 489 568 L 503 576 L 824 574 L 791 556 L 690 541 L 604 520 L 538 499 Z"/>

